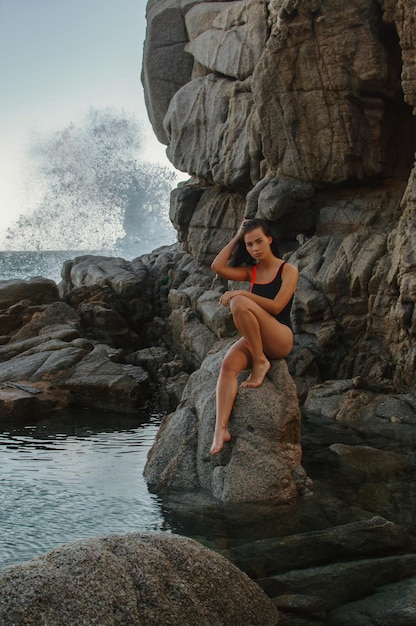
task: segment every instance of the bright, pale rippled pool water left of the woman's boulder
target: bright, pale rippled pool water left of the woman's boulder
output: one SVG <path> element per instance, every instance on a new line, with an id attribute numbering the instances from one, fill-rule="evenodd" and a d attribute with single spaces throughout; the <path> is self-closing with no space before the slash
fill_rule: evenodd
<path id="1" fill-rule="evenodd" d="M 168 530 L 142 477 L 159 422 L 88 412 L 1 433 L 1 565 L 83 537 Z"/>

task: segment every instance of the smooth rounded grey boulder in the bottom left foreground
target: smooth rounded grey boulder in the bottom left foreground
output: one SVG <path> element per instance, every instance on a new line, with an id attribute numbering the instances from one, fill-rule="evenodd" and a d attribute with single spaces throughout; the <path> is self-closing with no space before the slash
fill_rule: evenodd
<path id="1" fill-rule="evenodd" d="M 264 592 L 222 556 L 162 533 L 74 542 L 0 573 L 3 626 L 274 626 Z"/>

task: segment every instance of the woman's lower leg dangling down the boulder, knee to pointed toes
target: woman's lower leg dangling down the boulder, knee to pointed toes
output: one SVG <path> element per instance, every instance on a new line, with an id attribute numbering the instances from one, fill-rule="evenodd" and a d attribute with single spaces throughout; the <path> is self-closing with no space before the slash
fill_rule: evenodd
<path id="1" fill-rule="evenodd" d="M 242 370 L 250 367 L 250 363 L 250 352 L 245 339 L 241 338 L 231 346 L 221 365 L 217 381 L 217 415 L 211 454 L 218 454 L 224 443 L 231 439 L 228 422 L 238 391 L 237 376 Z"/>

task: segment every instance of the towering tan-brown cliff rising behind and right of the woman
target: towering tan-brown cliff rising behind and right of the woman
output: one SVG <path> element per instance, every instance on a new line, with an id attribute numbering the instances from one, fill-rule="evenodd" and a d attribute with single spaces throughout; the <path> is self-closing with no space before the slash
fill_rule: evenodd
<path id="1" fill-rule="evenodd" d="M 415 384 L 414 8 L 148 2 L 149 116 L 191 176 L 179 240 L 208 266 L 243 215 L 272 222 L 302 277 L 291 371 L 312 382 Z"/>

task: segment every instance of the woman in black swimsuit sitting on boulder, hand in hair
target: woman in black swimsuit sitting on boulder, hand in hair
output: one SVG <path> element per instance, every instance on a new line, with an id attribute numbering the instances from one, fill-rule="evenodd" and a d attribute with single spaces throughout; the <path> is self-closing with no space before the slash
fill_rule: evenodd
<path id="1" fill-rule="evenodd" d="M 235 249 L 244 244 L 252 265 L 229 265 Z M 250 291 L 226 291 L 220 298 L 230 306 L 234 324 L 242 335 L 227 352 L 217 382 L 217 415 L 211 454 L 230 441 L 228 421 L 238 391 L 237 377 L 251 369 L 243 387 L 260 387 L 270 369 L 270 359 L 286 357 L 293 347 L 290 309 L 298 281 L 294 265 L 273 251 L 273 236 L 266 222 L 244 220 L 237 234 L 218 253 L 211 269 L 222 278 L 251 283 Z"/>

